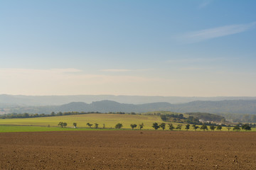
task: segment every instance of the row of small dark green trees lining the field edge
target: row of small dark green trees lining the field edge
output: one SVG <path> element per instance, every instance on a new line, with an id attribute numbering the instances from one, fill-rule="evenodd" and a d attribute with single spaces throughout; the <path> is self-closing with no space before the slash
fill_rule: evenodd
<path id="1" fill-rule="evenodd" d="M 60 122 L 60 123 L 58 123 L 58 125 L 60 125 L 60 127 L 61 128 L 65 128 L 68 124 L 67 123 L 63 123 L 63 122 Z M 94 125 L 94 127 L 93 127 L 93 125 Z M 77 126 L 78 126 L 78 123 L 73 123 L 73 126 L 74 126 L 74 128 L 77 128 Z M 87 126 L 89 127 L 89 128 L 95 128 L 95 129 L 98 129 L 99 128 L 99 124 L 98 123 L 94 123 L 94 124 L 92 124 L 92 123 L 87 123 Z M 134 130 L 134 128 L 139 128 L 139 130 L 142 130 L 143 128 L 144 128 L 144 123 L 141 123 L 141 124 L 139 124 L 139 125 L 137 125 L 137 124 L 131 124 L 130 125 L 131 126 L 131 128 L 132 128 L 132 130 Z M 182 126 L 183 126 L 183 124 L 178 124 L 176 127 L 174 127 L 174 125 L 172 124 L 172 123 L 168 123 L 167 124 L 167 128 L 169 129 L 169 130 L 174 130 L 174 129 L 176 129 L 176 130 L 181 130 L 181 128 L 182 128 Z M 115 125 L 115 127 L 114 128 L 116 128 L 116 129 L 121 129 L 123 127 L 123 125 L 122 125 L 122 123 L 117 123 L 117 125 Z M 154 130 L 158 130 L 158 129 L 162 129 L 162 130 L 165 130 L 166 129 L 166 123 L 161 123 L 161 124 L 159 124 L 159 123 L 153 123 L 152 124 L 152 128 L 154 128 Z M 222 125 L 217 125 L 217 126 L 215 126 L 215 125 L 210 125 L 209 126 L 209 128 L 208 128 L 208 125 L 206 125 L 205 123 L 203 123 L 203 125 L 201 125 L 201 127 L 199 127 L 198 125 L 196 125 L 196 124 L 193 124 L 193 125 L 190 125 L 190 124 L 186 124 L 185 125 L 185 130 L 189 130 L 189 129 L 193 129 L 193 130 L 198 130 L 199 128 L 200 128 L 200 130 L 203 130 L 203 131 L 205 131 L 205 130 L 211 130 L 211 131 L 214 131 L 215 129 L 216 130 L 222 130 L 223 129 L 223 126 Z M 247 124 L 247 123 L 245 123 L 245 124 L 238 124 L 238 125 L 235 125 L 235 126 L 233 126 L 233 127 L 231 127 L 231 126 L 226 126 L 225 128 L 227 128 L 227 130 L 228 131 L 230 131 L 231 129 L 233 129 L 233 130 L 236 130 L 236 131 L 239 131 L 239 130 L 251 130 L 252 129 L 252 126 L 250 125 L 250 124 Z M 254 127 L 255 128 L 255 127 Z M 105 124 L 103 124 L 103 129 L 105 129 Z"/>

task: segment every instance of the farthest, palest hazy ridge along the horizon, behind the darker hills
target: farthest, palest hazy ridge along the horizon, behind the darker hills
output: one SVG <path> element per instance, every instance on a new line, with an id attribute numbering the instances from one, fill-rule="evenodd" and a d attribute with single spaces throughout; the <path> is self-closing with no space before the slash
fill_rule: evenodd
<path id="1" fill-rule="evenodd" d="M 0 95 L 0 106 L 58 106 L 71 102 L 92 103 L 92 101 L 116 101 L 119 103 L 144 104 L 144 103 L 188 103 L 191 101 L 225 101 L 225 100 L 256 100 L 256 97 L 178 97 L 178 96 L 114 96 L 114 95 L 73 95 L 73 96 L 24 96 Z"/>

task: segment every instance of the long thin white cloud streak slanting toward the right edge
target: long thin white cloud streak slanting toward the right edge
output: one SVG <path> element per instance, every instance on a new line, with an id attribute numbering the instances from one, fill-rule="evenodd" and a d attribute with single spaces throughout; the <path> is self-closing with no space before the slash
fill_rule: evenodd
<path id="1" fill-rule="evenodd" d="M 223 27 L 210 28 L 206 30 L 199 30 L 196 32 L 186 33 L 185 35 L 179 36 L 177 39 L 181 42 L 187 42 L 187 43 L 201 42 L 203 40 L 209 40 L 213 38 L 224 37 L 227 35 L 242 33 L 255 27 L 256 27 L 256 22 L 223 26 Z"/>

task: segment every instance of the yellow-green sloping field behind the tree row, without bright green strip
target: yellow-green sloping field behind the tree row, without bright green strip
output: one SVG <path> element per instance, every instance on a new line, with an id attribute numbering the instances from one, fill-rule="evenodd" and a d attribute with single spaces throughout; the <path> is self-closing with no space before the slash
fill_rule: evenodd
<path id="1" fill-rule="evenodd" d="M 144 123 L 144 129 L 153 129 L 152 123 L 162 123 L 157 115 L 119 115 L 119 114 L 85 114 L 85 115 L 63 115 L 44 118 L 16 118 L 0 119 L 0 125 L 41 125 L 57 126 L 59 122 L 68 123 L 68 127 L 73 127 L 73 123 L 78 123 L 79 127 L 87 127 L 86 123 L 98 123 L 99 128 L 114 128 L 117 123 L 122 123 L 123 128 L 131 128 L 131 124 Z M 176 124 L 175 124 L 176 125 Z"/>

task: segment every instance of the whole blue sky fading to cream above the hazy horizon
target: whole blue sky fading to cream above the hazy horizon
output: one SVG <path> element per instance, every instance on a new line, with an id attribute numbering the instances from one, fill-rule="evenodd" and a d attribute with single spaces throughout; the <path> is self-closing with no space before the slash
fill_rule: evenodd
<path id="1" fill-rule="evenodd" d="M 0 0 L 0 94 L 256 96 L 255 8 Z"/>

